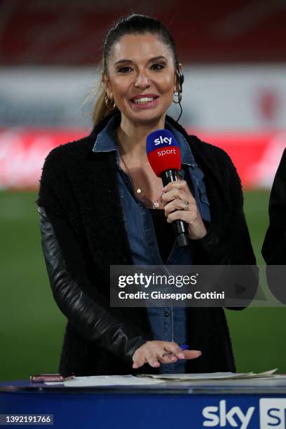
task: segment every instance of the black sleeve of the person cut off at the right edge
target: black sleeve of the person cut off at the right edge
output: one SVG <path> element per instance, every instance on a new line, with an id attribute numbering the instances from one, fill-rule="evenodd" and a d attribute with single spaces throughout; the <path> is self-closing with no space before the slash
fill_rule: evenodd
<path id="1" fill-rule="evenodd" d="M 262 246 L 266 264 L 286 264 L 286 149 L 275 175 L 269 200 L 269 227 Z"/>

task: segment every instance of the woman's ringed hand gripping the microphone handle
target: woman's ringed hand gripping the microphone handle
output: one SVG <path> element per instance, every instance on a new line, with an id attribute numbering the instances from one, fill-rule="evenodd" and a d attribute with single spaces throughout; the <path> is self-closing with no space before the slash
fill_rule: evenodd
<path id="1" fill-rule="evenodd" d="M 206 235 L 207 229 L 200 217 L 196 200 L 185 180 L 176 180 L 176 182 L 166 185 L 163 188 L 161 200 L 165 206 L 167 222 L 170 223 L 177 219 L 186 222 L 189 237 L 192 240 L 198 240 Z"/>

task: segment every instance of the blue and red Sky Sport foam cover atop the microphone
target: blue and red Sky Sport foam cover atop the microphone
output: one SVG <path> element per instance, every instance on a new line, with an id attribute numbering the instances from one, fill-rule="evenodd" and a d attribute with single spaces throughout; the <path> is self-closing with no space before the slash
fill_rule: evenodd
<path id="1" fill-rule="evenodd" d="M 179 144 L 169 130 L 151 132 L 147 137 L 146 151 L 151 168 L 158 177 L 165 171 L 181 169 Z"/>

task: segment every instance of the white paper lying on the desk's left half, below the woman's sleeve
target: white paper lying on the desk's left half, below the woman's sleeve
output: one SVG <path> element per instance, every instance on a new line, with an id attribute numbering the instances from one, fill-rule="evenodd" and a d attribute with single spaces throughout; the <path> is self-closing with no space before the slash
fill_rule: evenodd
<path id="1" fill-rule="evenodd" d="M 97 386 L 148 386 L 151 384 L 163 383 L 163 380 L 155 380 L 150 378 L 138 378 L 132 375 L 123 376 L 86 376 L 74 377 L 74 379 L 60 382 L 46 381 L 47 386 L 55 386 L 60 384 L 64 387 L 97 387 Z"/>

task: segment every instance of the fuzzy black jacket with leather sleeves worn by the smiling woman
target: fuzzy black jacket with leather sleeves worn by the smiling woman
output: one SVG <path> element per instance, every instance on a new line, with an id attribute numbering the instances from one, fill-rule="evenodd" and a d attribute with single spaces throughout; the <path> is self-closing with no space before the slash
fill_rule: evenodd
<path id="1" fill-rule="evenodd" d="M 152 339 L 146 308 L 109 307 L 109 266 L 132 265 L 116 180 L 114 152 L 92 151 L 97 133 L 63 144 L 43 165 L 39 198 L 43 253 L 53 296 L 68 323 L 60 372 L 78 376 L 156 373 L 132 369 L 132 355 Z M 212 222 L 193 242 L 195 264 L 255 264 L 243 214 L 240 179 L 229 156 L 172 118 L 205 175 Z M 120 123 L 120 115 L 117 117 Z M 202 351 L 187 372 L 235 371 L 222 308 L 189 308 L 189 346 Z"/>

